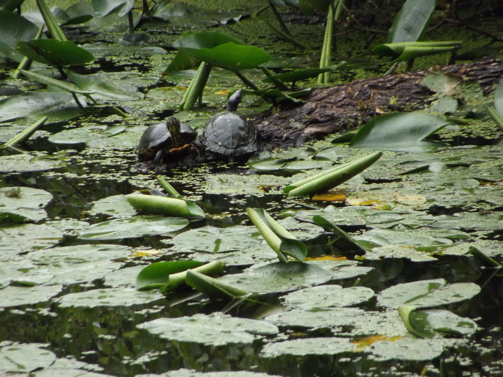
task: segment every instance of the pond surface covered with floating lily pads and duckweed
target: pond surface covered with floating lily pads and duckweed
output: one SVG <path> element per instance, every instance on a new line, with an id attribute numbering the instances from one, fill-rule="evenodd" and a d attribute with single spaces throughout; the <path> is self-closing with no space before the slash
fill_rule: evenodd
<path id="1" fill-rule="evenodd" d="M 49 119 L 0 156 L 0 375 L 503 374 L 503 280 L 491 264 L 503 254 L 503 147 L 501 131 L 480 110 L 492 93 L 453 111 L 465 122 L 439 131 L 435 148 L 384 150 L 329 197 L 288 197 L 283 189 L 371 151 L 333 143 L 331 135 L 264 152 L 248 165 L 162 172 L 204 218 L 140 214 L 126 201 L 135 191 L 162 191 L 156 174 L 137 166 L 134 148 L 147 125 L 177 112 L 195 74 L 162 75 L 176 54 L 173 41 L 215 17 L 142 24 L 143 45 L 118 44 L 123 31 L 74 31 L 70 39 L 97 58 L 78 74 L 110 85 L 83 112 L 66 92 L 9 81 L 24 92 L 0 100 L 2 142 L 41 113 Z M 297 26 L 301 35 L 322 31 Z M 265 39 L 243 39 L 275 46 L 271 67 L 309 66 L 310 54 L 278 47 L 261 21 L 232 28 L 236 37 L 263 31 Z M 338 54 L 356 43 L 349 39 Z M 2 76 L 15 67 L 4 60 Z M 55 72 L 39 63 L 31 69 Z M 177 117 L 200 132 L 223 108 L 222 90 L 241 86 L 215 69 L 203 107 Z M 33 105 L 43 101 L 46 108 Z M 239 111 L 269 107 L 246 96 Z M 302 240 L 305 262 L 279 262 L 246 208 L 265 208 Z M 330 226 L 321 227 L 320 217 Z M 189 259 L 225 263 L 218 282 L 252 295 L 213 297 L 186 285 L 167 294 L 136 290 L 150 263 Z"/>

